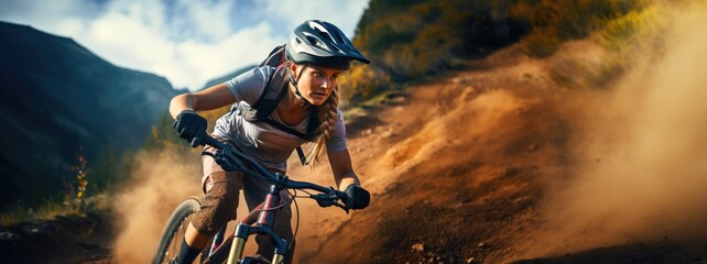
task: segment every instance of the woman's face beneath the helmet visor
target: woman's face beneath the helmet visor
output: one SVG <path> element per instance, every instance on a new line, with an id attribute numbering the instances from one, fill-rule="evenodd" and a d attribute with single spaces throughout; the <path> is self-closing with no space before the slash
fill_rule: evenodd
<path id="1" fill-rule="evenodd" d="M 333 69 L 316 65 L 307 65 L 302 74 L 302 65 L 293 66 L 295 78 L 297 79 L 297 88 L 302 97 L 307 99 L 314 106 L 322 106 L 331 91 L 336 88 L 336 79 L 341 74 L 339 69 Z M 300 74 L 301 76 L 296 76 Z"/>

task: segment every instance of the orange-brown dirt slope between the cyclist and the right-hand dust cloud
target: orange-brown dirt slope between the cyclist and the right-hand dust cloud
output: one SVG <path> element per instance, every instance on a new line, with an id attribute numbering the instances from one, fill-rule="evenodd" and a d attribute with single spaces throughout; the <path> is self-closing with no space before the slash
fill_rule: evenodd
<path id="1" fill-rule="evenodd" d="M 537 64 L 507 50 L 372 111 L 383 125 L 350 142 L 371 207 L 302 251 L 303 263 L 493 263 L 510 253 L 567 163 L 562 91 Z"/>

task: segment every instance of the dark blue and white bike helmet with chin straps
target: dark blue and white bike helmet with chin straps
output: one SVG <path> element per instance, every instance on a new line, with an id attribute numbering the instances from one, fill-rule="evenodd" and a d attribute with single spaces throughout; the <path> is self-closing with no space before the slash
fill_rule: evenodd
<path id="1" fill-rule="evenodd" d="M 287 80 L 295 87 L 295 96 L 303 101 L 302 108 L 312 105 L 302 96 L 297 87 L 307 65 L 348 70 L 352 59 L 365 64 L 371 63 L 356 50 L 339 28 L 322 20 L 307 20 L 295 28 L 285 45 L 285 56 L 296 65 L 303 65 L 296 79 L 292 70 L 287 70 Z"/>

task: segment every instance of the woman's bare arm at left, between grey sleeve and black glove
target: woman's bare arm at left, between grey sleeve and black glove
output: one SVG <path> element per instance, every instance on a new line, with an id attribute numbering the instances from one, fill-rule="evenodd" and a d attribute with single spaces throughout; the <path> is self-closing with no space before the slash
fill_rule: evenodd
<path id="1" fill-rule="evenodd" d="M 197 92 L 187 92 L 172 98 L 170 114 L 176 119 L 180 112 L 191 109 L 194 111 L 213 110 L 236 102 L 236 97 L 220 84 Z"/>

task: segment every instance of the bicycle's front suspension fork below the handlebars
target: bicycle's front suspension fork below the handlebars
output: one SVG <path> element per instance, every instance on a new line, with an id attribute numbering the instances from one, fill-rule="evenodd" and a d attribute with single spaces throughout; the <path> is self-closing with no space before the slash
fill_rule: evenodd
<path id="1" fill-rule="evenodd" d="M 244 222 L 238 223 L 236 233 L 233 234 L 233 243 L 228 254 L 228 264 L 236 264 L 238 260 L 241 260 L 246 241 L 248 237 L 253 233 L 267 234 L 271 238 L 272 243 L 275 245 L 275 252 L 271 261 L 272 264 L 280 264 L 284 261 L 287 243 L 280 239 L 273 229 L 278 211 L 276 208 L 281 200 L 280 190 L 281 189 L 275 186 L 270 188 L 270 193 L 265 197 L 265 202 L 254 226 Z"/>

